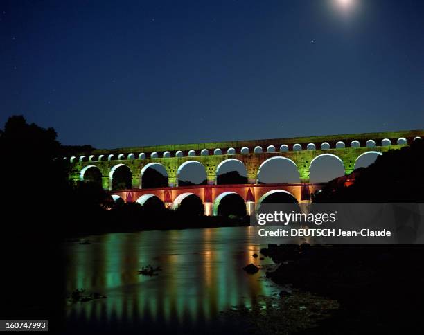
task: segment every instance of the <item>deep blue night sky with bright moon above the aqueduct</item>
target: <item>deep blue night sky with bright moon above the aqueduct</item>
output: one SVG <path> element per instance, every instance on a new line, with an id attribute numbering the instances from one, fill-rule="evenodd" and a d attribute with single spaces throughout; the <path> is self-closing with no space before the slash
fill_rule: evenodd
<path id="1" fill-rule="evenodd" d="M 0 123 L 125 147 L 424 128 L 424 1 L 1 1 Z"/>

